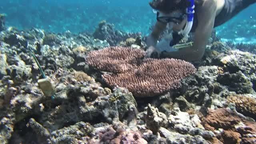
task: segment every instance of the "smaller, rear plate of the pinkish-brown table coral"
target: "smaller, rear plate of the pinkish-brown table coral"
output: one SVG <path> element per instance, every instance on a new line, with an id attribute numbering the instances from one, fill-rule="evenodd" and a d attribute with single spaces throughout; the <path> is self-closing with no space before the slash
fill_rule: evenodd
<path id="1" fill-rule="evenodd" d="M 143 57 L 142 50 L 117 46 L 89 52 L 86 63 L 98 70 L 116 73 L 134 69 Z"/>

